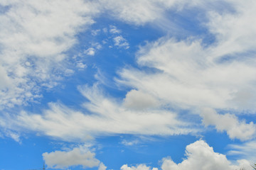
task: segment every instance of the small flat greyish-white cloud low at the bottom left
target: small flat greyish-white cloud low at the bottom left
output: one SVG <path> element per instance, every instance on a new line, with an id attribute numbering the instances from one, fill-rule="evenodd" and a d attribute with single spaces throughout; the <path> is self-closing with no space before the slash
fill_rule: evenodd
<path id="1" fill-rule="evenodd" d="M 82 152 L 79 148 L 74 148 L 70 151 L 55 151 L 43 153 L 43 160 L 48 168 L 65 169 L 69 166 L 82 165 L 85 169 L 99 166 L 100 161 L 95 158 L 95 153 L 90 151 Z M 102 167 L 102 164 L 100 164 Z"/>

